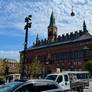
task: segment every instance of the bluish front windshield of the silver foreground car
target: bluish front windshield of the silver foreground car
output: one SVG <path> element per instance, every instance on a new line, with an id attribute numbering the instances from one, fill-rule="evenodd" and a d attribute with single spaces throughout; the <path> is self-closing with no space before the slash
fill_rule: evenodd
<path id="1" fill-rule="evenodd" d="M 21 84 L 23 84 L 23 82 L 8 83 L 8 84 L 2 86 L 2 88 L 0 88 L 0 92 L 12 92 L 15 88 L 17 88 Z"/>

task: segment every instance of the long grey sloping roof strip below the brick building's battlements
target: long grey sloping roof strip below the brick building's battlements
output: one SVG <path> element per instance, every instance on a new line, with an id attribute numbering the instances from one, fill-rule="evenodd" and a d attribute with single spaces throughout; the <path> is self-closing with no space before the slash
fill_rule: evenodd
<path id="1" fill-rule="evenodd" d="M 52 46 L 62 45 L 62 44 L 71 43 L 71 42 L 88 40 L 88 39 L 92 39 L 92 35 L 90 35 L 89 33 L 88 34 L 83 34 L 83 35 L 81 35 L 77 38 L 74 38 L 74 39 L 61 40 L 61 41 L 57 41 L 57 42 L 53 42 L 53 43 L 47 43 L 47 44 L 40 45 L 40 46 L 31 46 L 27 50 L 36 50 L 36 49 L 52 47 Z"/>

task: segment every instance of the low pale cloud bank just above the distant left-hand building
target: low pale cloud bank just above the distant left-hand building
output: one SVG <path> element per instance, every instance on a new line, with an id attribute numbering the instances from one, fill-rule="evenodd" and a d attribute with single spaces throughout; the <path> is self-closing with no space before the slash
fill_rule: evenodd
<path id="1" fill-rule="evenodd" d="M 0 57 L 11 58 L 19 61 L 19 51 L 0 51 Z"/>

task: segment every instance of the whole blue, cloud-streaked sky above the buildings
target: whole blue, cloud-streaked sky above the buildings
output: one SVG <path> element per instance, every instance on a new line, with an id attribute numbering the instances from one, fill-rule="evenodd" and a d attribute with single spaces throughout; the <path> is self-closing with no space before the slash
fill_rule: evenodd
<path id="1" fill-rule="evenodd" d="M 75 16 L 70 16 L 73 6 Z M 32 15 L 28 47 L 36 40 L 47 38 L 53 9 L 58 35 L 79 31 L 83 20 L 92 34 L 92 0 L 0 0 L 0 57 L 19 61 L 24 49 L 25 17 Z"/>

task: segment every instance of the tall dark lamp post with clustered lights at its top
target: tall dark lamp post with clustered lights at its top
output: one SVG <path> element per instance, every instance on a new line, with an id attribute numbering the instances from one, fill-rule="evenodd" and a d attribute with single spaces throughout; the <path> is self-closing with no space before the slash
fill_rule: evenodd
<path id="1" fill-rule="evenodd" d="M 26 25 L 24 26 L 25 32 L 25 44 L 24 44 L 24 52 L 23 52 L 23 62 L 22 62 L 22 72 L 21 72 L 21 79 L 26 80 L 27 79 L 27 72 L 26 72 L 26 50 L 27 50 L 27 40 L 28 40 L 28 29 L 31 28 L 31 17 L 32 15 L 29 15 L 25 18 Z"/>

